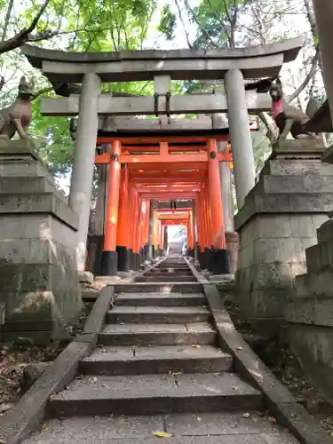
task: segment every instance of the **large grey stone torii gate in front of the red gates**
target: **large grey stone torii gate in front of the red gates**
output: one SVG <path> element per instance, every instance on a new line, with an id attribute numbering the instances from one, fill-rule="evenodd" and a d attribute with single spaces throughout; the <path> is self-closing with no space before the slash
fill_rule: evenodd
<path id="1" fill-rule="evenodd" d="M 41 105 L 43 115 L 78 115 L 69 205 L 79 215 L 76 241 L 79 271 L 83 270 L 85 262 L 99 115 L 227 113 L 237 202 L 242 207 L 245 196 L 255 184 L 249 113 L 258 114 L 271 107 L 268 94 L 245 92 L 244 79 L 278 75 L 283 63 L 296 59 L 303 44 L 304 38 L 298 37 L 267 47 L 234 50 L 100 53 L 58 52 L 23 46 L 22 52 L 31 65 L 40 68 L 53 84 L 82 83 L 80 95 L 42 99 Z M 226 95 L 217 92 L 172 96 L 170 81 L 185 79 L 224 79 Z M 103 82 L 149 80 L 155 82 L 153 97 L 112 97 L 109 93 L 101 93 Z M 190 132 L 194 137 L 202 134 L 200 129 Z M 210 136 L 212 140 L 218 132 L 218 129 L 209 130 L 206 138 Z M 184 130 L 178 131 L 179 134 L 184 134 Z"/>

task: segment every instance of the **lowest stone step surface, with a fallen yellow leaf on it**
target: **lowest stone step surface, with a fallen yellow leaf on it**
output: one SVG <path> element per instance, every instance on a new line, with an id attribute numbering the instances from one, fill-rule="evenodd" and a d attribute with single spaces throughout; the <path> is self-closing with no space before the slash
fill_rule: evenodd
<path id="1" fill-rule="evenodd" d="M 267 418 L 261 418 L 257 414 L 250 415 L 249 418 L 243 418 L 242 413 L 203 413 L 196 415 L 170 415 L 170 416 L 99 416 L 85 418 L 67 418 L 62 420 L 51 420 L 44 424 L 44 430 L 31 436 L 28 442 L 38 442 L 44 440 L 49 442 L 51 439 L 59 441 L 72 439 L 88 440 L 94 437 L 94 440 L 117 440 L 126 437 L 130 440 L 140 438 L 150 439 L 153 433 L 163 430 L 163 424 L 166 424 L 167 432 L 173 437 L 202 436 L 209 440 L 209 435 L 223 439 L 222 435 L 258 435 L 270 434 L 272 439 L 278 440 L 281 427 L 276 424 L 270 424 Z M 280 432 L 281 431 L 281 432 Z M 287 436 L 285 436 L 287 438 Z M 169 439 L 173 442 L 175 438 Z M 291 437 L 289 437 L 291 439 Z M 209 442 L 209 441 L 208 441 Z M 219 441 L 222 442 L 223 441 Z M 227 441 L 226 441 L 227 442 Z M 233 441 L 229 441 L 232 442 Z M 272 441 L 264 441 L 265 444 Z M 274 441 L 273 441 L 274 442 Z M 277 441 L 279 442 L 279 441 Z M 289 444 L 296 441 L 287 441 Z M 286 444 L 286 443 L 283 443 Z"/>

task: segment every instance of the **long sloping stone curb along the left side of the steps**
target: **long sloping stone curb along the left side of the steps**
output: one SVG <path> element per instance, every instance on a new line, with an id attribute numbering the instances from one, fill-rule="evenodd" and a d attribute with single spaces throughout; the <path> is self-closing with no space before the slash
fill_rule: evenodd
<path id="1" fill-rule="evenodd" d="M 16 406 L 0 419 L 0 443 L 19 444 L 43 421 L 52 393 L 59 392 L 75 378 L 79 362 L 96 347 L 113 295 L 113 286 L 100 291 L 84 324 L 83 334 L 67 345 Z"/>

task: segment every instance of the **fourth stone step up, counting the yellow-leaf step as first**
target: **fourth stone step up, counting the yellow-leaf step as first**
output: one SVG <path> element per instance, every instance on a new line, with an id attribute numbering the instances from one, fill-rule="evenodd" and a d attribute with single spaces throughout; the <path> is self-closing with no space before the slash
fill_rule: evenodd
<path id="1" fill-rule="evenodd" d="M 216 331 L 205 322 L 188 324 L 108 324 L 99 334 L 101 345 L 215 344 Z"/>

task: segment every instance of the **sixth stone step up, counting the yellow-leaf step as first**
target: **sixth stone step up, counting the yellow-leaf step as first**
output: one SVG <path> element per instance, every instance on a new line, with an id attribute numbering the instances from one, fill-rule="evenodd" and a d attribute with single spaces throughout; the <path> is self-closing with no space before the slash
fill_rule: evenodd
<path id="1" fill-rule="evenodd" d="M 200 306 L 207 299 L 202 293 L 118 293 L 115 305 Z"/>

